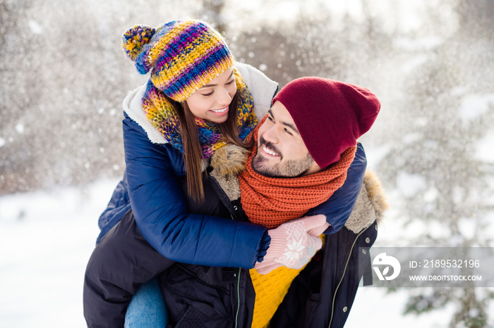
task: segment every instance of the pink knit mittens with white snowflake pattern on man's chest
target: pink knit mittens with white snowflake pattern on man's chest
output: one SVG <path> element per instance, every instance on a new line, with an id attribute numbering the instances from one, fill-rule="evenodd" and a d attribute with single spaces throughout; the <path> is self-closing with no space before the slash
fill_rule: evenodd
<path id="1" fill-rule="evenodd" d="M 313 215 L 286 222 L 267 234 L 271 237 L 270 247 L 263 262 L 255 263 L 255 269 L 265 275 L 277 267 L 301 269 L 323 246 L 319 238 L 327 227 L 324 215 Z"/>

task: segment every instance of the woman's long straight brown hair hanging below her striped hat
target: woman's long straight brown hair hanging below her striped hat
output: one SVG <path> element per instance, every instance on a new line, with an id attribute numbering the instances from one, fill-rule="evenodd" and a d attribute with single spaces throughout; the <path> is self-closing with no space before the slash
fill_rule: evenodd
<path id="1" fill-rule="evenodd" d="M 183 144 L 183 161 L 186 166 L 187 193 L 193 200 L 202 202 L 205 199 L 203 187 L 203 151 L 200 147 L 198 127 L 195 124 L 195 117 L 188 108 L 186 101 L 182 103 L 174 102 L 180 120 L 180 133 Z M 228 118 L 225 122 L 219 123 L 219 132 L 227 138 L 227 141 L 237 146 L 246 147 L 239 139 L 237 129 L 239 106 L 239 92 L 236 92 L 228 109 Z"/>

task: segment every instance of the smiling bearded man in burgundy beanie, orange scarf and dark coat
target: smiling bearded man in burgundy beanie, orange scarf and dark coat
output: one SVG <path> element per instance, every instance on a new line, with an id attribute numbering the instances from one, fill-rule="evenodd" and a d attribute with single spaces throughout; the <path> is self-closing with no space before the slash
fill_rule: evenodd
<path id="1" fill-rule="evenodd" d="M 318 235 L 330 229 L 326 217 L 311 215 L 317 213 L 311 208 L 342 187 L 356 139 L 368 131 L 379 109 L 373 94 L 351 84 L 318 77 L 287 84 L 253 132 L 254 148 L 239 175 L 239 205 L 248 220 L 272 228 L 267 253 L 255 264 L 267 280 L 255 271 L 172 263 L 147 244 L 128 213 L 102 239 L 88 264 L 88 325 L 100 327 L 98 321 L 104 323 L 105 316 L 112 322 L 112 316 L 123 315 L 136 286 L 162 272 L 163 296 L 175 327 L 263 327 L 260 320 L 266 315 L 259 313 L 266 308 L 271 327 L 341 327 L 361 278 L 356 245 L 372 245 L 376 232 L 369 226 L 375 222 L 326 236 L 323 251 L 314 256 L 322 246 Z M 235 186 L 222 184 L 224 189 Z M 227 195 L 235 194 L 230 191 Z M 304 214 L 308 216 L 293 220 Z M 112 254 L 133 265 L 106 266 Z M 368 255 L 363 259 L 368 263 Z M 266 295 L 263 287 L 280 277 L 284 291 L 277 300 L 269 294 L 267 303 L 264 296 L 258 299 Z"/>

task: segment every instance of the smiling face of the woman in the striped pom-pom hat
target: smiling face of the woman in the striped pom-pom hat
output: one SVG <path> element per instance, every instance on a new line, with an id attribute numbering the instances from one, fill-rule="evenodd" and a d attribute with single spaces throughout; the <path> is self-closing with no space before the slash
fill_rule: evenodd
<path id="1" fill-rule="evenodd" d="M 196 118 L 222 123 L 228 118 L 228 106 L 235 93 L 234 70 L 229 68 L 194 92 L 186 102 Z"/>

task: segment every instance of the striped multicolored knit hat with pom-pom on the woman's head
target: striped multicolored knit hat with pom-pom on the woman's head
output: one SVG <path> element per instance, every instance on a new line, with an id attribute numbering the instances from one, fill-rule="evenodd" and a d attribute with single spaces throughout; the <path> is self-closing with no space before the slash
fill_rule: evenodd
<path id="1" fill-rule="evenodd" d="M 151 82 L 175 101 L 234 65 L 222 35 L 198 20 L 174 20 L 157 30 L 136 25 L 123 34 L 122 46 L 138 72 L 151 71 Z"/>

